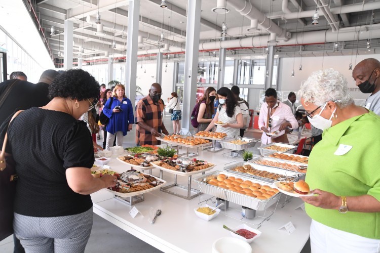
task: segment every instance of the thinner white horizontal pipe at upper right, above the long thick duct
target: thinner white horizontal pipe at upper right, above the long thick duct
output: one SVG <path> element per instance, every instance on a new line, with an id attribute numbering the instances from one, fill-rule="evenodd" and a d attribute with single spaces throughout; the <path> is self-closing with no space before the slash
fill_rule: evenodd
<path id="1" fill-rule="evenodd" d="M 372 11 L 380 9 L 380 1 L 375 2 L 364 2 L 360 4 L 344 5 L 342 7 L 330 8 L 332 14 L 341 13 L 351 13 L 351 12 L 362 12 L 362 11 Z M 296 19 L 296 18 L 310 18 L 313 17 L 315 10 L 303 11 L 303 12 L 292 12 L 282 15 L 283 19 Z M 271 18 L 274 18 L 273 16 Z"/>

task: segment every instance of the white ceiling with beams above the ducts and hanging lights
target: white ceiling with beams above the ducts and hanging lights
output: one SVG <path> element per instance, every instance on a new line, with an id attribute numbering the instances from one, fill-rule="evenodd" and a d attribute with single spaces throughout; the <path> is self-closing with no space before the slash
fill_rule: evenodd
<path id="1" fill-rule="evenodd" d="M 0 14 L 3 10 L 10 10 L 12 3 L 16 1 L 23 1 L 25 6 L 28 6 L 28 0 L 13 0 L 2 1 L 0 3 Z M 211 11 L 216 7 L 216 0 L 203 0 L 202 1 L 202 13 L 201 13 L 201 33 L 200 42 L 217 41 L 220 38 L 221 26 L 223 22 L 227 24 L 226 39 L 236 39 L 251 36 L 262 36 L 263 41 L 268 40 L 268 32 L 261 31 L 260 33 L 251 33 L 246 30 L 250 26 L 250 20 L 243 17 L 239 12 L 231 6 L 229 0 L 226 3 L 226 8 L 230 9 L 229 13 L 216 14 Z M 249 0 L 246 0 L 249 1 Z M 310 11 L 312 14 L 316 10 L 316 2 L 329 3 L 328 8 L 343 8 L 351 5 L 361 5 L 361 0 L 250 0 L 252 5 L 268 18 L 271 18 L 274 24 L 281 28 L 291 32 L 292 36 L 296 33 L 308 32 L 308 31 L 320 31 L 330 30 L 331 26 L 328 24 L 325 16 L 319 11 L 319 25 L 311 25 L 312 15 L 298 18 L 284 18 L 286 13 L 283 12 L 283 2 L 288 2 L 288 8 L 291 13 L 302 13 Z M 58 52 L 63 51 L 63 38 L 64 38 L 64 20 L 70 19 L 74 23 L 74 57 L 78 56 L 78 53 L 83 46 L 85 48 L 85 54 L 81 54 L 85 59 L 104 58 L 106 54 L 119 53 L 125 55 L 126 50 L 126 34 L 128 29 L 128 1 L 125 0 L 35 0 L 33 9 L 36 11 L 37 17 L 41 23 L 41 26 L 45 29 L 45 37 L 49 42 L 52 54 L 55 58 L 62 58 L 58 56 Z M 379 3 L 380 1 L 367 0 L 367 3 Z M 178 45 L 182 43 L 184 49 L 185 34 L 186 34 L 186 15 L 187 15 L 187 1 L 186 0 L 168 0 L 168 8 L 160 8 L 161 0 L 140 0 L 140 22 L 139 30 L 143 35 L 143 44 L 139 44 L 139 50 L 157 49 L 163 47 L 163 43 L 159 43 L 158 37 L 164 32 L 165 41 L 167 39 L 176 41 Z M 380 3 L 379 3 L 380 4 Z M 298 7 L 296 6 L 298 5 Z M 300 10 L 301 9 L 301 10 Z M 103 30 L 106 33 L 104 37 L 99 37 L 94 34 L 96 32 L 97 25 L 94 23 L 86 22 L 86 17 L 90 14 L 93 18 L 96 17 L 98 12 L 101 15 L 101 21 L 103 23 L 110 23 L 112 26 L 108 27 L 104 25 Z M 341 9 L 340 9 L 341 10 Z M 380 7 L 376 7 L 374 10 L 357 11 L 353 9 L 352 12 L 332 14 L 332 16 L 339 21 L 339 29 L 348 27 L 364 25 L 367 28 L 371 28 L 380 23 Z M 300 12 L 301 11 L 301 12 Z M 373 13 L 374 19 L 371 20 Z M 124 36 L 121 34 L 122 29 L 114 29 L 113 24 L 116 23 L 124 28 Z M 56 35 L 50 35 L 50 27 L 54 25 Z M 379 27 L 380 28 L 380 27 Z M 372 29 L 374 29 L 372 27 Z M 377 27 L 376 27 L 377 29 Z M 344 30 L 344 29 L 341 29 Z M 10 31 L 12 32 L 12 31 Z M 147 36 L 147 34 L 149 36 Z M 375 34 L 375 33 L 373 33 Z M 303 35 L 302 35 L 303 36 Z M 380 36 L 379 36 L 380 37 Z M 371 47 L 375 49 L 380 44 L 379 37 L 371 37 Z M 110 44 L 115 40 L 117 43 L 116 50 L 110 48 Z M 303 38 L 302 38 L 303 40 Z M 350 41 L 351 40 L 351 41 Z M 352 54 L 353 49 L 366 48 L 366 41 L 357 41 L 354 36 L 352 39 L 341 41 L 340 55 Z M 301 44 L 301 43 L 297 43 Z M 311 45 L 310 45 L 311 44 Z M 298 53 L 298 49 L 295 50 L 294 46 L 282 47 L 285 45 L 285 41 L 280 40 L 277 44 L 278 54 L 283 53 L 282 57 L 293 57 Z M 327 44 L 326 44 L 327 45 Z M 310 52 L 310 55 L 318 55 L 316 51 L 325 54 L 326 45 L 309 43 L 302 49 Z M 328 44 L 331 47 L 331 43 Z M 296 46 L 297 48 L 299 47 Z M 238 47 L 237 47 L 238 48 Z M 379 46 L 380 48 L 380 46 Z M 174 52 L 180 50 L 180 48 L 174 48 Z M 234 50 L 234 49 L 232 49 Z M 173 50 L 172 50 L 173 51 Z M 262 50 L 255 48 L 251 49 L 236 49 L 234 54 L 262 54 Z M 364 50 L 365 51 L 365 50 Z M 380 51 L 380 50 L 379 50 Z M 105 53 L 107 52 L 107 53 Z M 254 52 L 254 53 L 253 53 Z M 351 53 L 350 53 L 351 52 Z M 356 52 L 356 50 L 355 50 Z M 373 52 L 373 51 L 372 51 Z M 336 52 L 330 52 L 328 55 L 336 54 Z M 175 57 L 175 55 L 173 56 Z M 172 57 L 172 58 L 173 58 Z"/>

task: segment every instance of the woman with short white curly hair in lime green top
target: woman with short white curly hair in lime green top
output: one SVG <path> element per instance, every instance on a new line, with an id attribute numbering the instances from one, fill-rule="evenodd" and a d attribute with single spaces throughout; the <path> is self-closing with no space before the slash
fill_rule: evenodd
<path id="1" fill-rule="evenodd" d="M 315 195 L 302 197 L 312 252 L 380 252 L 380 117 L 355 105 L 334 69 L 312 73 L 299 95 L 310 123 L 323 130 L 306 174 Z"/>

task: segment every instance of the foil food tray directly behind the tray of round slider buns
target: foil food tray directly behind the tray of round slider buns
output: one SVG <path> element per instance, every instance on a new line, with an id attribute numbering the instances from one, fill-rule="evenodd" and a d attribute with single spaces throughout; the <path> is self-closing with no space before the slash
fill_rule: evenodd
<path id="1" fill-rule="evenodd" d="M 256 175 L 251 175 L 251 174 L 244 173 L 244 172 L 234 171 L 234 168 L 236 168 L 238 166 L 243 166 L 245 164 L 251 165 L 256 170 L 267 171 L 267 172 L 270 172 L 270 173 L 276 173 L 276 174 L 283 175 L 284 177 L 282 177 L 281 179 L 275 180 L 275 179 L 263 178 L 263 177 L 256 176 Z M 264 182 L 269 182 L 269 183 L 273 183 L 275 181 L 282 181 L 282 180 L 286 180 L 286 179 L 289 179 L 290 181 L 296 182 L 299 179 L 302 179 L 302 178 L 305 177 L 305 174 L 285 171 L 285 170 L 282 170 L 281 168 L 275 168 L 275 167 L 268 167 L 268 166 L 263 166 L 263 165 L 257 165 L 257 164 L 249 163 L 249 162 L 234 163 L 234 164 L 231 164 L 229 166 L 224 167 L 224 170 L 226 170 L 226 171 L 228 171 L 230 173 L 236 173 L 236 174 L 242 175 L 242 176 L 247 177 L 247 178 L 252 178 L 252 179 L 256 179 L 256 180 L 260 180 L 260 181 L 264 181 Z"/>

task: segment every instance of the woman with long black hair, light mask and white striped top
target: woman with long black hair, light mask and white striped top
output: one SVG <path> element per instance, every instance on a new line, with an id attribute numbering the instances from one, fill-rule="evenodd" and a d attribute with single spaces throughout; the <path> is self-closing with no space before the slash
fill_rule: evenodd
<path id="1" fill-rule="evenodd" d="M 240 136 L 243 128 L 243 114 L 238 101 L 229 88 L 222 87 L 217 91 L 219 106 L 211 123 L 205 131 L 210 131 L 215 125 L 216 132 L 226 133 L 227 137 Z"/>

